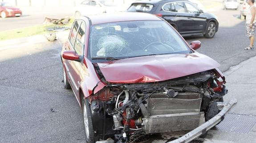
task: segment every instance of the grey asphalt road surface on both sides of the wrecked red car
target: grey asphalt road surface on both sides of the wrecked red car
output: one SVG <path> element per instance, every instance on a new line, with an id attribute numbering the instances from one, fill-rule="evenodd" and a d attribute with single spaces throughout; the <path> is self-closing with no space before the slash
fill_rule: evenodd
<path id="1" fill-rule="evenodd" d="M 222 71 L 255 56 L 256 50 L 243 50 L 249 41 L 244 21 L 237 18 L 239 11 L 218 9 L 213 13 L 219 17 L 219 31 L 213 39 L 185 39 L 200 40 L 198 51 L 218 61 Z M 62 44 L 57 40 L 0 51 L 1 143 L 84 142 L 80 107 L 61 82 Z"/>

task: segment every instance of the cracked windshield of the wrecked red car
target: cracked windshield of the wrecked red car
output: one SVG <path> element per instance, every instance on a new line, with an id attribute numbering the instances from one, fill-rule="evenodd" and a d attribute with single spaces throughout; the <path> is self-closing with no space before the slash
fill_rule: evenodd
<path id="1" fill-rule="evenodd" d="M 91 58 L 131 58 L 189 54 L 189 48 L 164 21 L 126 21 L 93 25 L 89 54 Z"/>

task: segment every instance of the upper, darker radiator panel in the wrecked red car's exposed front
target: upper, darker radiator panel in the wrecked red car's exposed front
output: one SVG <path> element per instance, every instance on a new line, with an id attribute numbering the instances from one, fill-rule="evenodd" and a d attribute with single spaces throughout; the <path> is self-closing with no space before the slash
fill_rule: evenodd
<path id="1" fill-rule="evenodd" d="M 199 112 L 201 100 L 199 93 L 179 93 L 174 98 L 153 94 L 148 99 L 147 110 L 150 116 Z"/>

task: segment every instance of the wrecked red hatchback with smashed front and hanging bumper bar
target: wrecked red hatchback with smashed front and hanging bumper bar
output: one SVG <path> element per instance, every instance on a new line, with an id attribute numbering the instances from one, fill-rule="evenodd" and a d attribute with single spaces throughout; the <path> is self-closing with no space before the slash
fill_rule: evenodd
<path id="1" fill-rule="evenodd" d="M 146 13 L 81 17 L 61 51 L 65 89 L 83 110 L 89 143 L 126 143 L 136 134 L 187 131 L 189 142 L 236 104 L 219 63 L 169 23 Z"/>

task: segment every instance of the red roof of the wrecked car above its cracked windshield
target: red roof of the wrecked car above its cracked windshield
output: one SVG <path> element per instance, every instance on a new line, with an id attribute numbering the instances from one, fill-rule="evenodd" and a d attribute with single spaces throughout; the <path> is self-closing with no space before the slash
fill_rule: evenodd
<path id="1" fill-rule="evenodd" d="M 139 21 L 139 20 L 162 20 L 155 15 L 140 12 L 119 12 L 101 15 L 90 15 L 87 16 L 92 25 L 102 24 L 102 23 L 114 23 L 122 21 Z"/>

